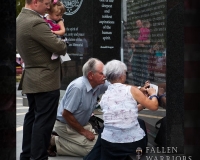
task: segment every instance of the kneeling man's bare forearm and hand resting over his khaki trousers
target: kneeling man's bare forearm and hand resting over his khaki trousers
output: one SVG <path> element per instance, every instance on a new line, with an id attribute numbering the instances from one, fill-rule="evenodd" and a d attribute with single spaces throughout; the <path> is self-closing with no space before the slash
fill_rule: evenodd
<path id="1" fill-rule="evenodd" d="M 73 116 L 73 114 L 66 109 L 64 109 L 62 116 L 65 118 L 67 123 L 75 129 L 78 133 L 85 136 L 88 140 L 93 141 L 95 139 L 95 136 L 92 132 L 86 130 L 79 124 L 79 122 L 76 120 L 76 118 Z"/>

